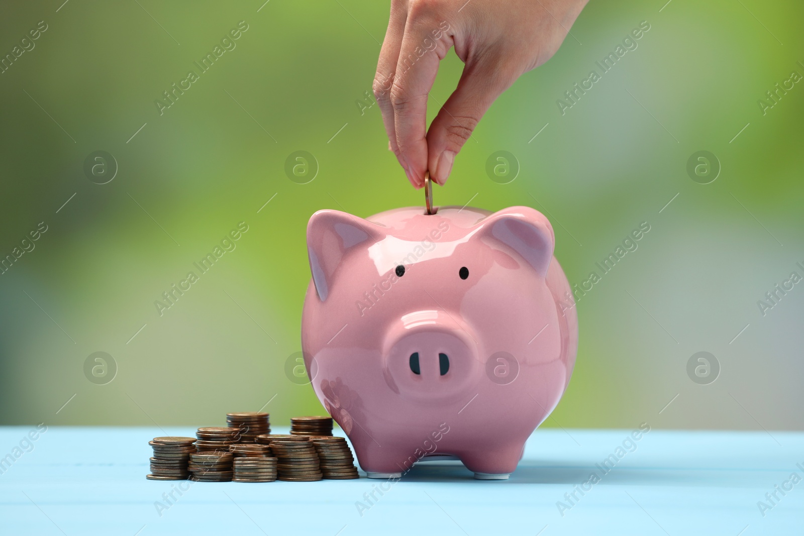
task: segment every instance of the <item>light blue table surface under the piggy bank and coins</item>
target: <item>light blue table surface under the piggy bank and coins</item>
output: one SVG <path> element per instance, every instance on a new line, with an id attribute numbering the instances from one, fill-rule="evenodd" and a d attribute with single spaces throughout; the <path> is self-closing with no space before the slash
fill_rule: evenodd
<path id="1" fill-rule="evenodd" d="M 804 433 L 652 430 L 604 474 L 596 464 L 631 431 L 542 429 L 508 481 L 431 462 L 391 486 L 147 481 L 158 428 L 51 427 L 14 451 L 31 429 L 0 428 L 0 456 L 23 452 L 2 465 L 0 534 L 804 534 L 804 481 L 789 481 L 804 478 Z M 600 481 L 581 495 L 592 472 Z M 179 483 L 189 489 L 169 505 L 162 493 Z M 364 494 L 379 485 L 390 489 L 370 504 Z M 168 506 L 161 515 L 156 501 Z"/>

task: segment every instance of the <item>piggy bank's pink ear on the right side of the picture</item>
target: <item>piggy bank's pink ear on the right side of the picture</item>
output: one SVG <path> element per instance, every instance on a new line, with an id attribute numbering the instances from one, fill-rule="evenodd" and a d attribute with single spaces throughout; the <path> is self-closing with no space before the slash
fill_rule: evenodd
<path id="1" fill-rule="evenodd" d="M 486 235 L 515 250 L 539 276 L 546 277 L 556 236 L 544 215 L 531 207 L 510 207 L 482 219 L 480 235 Z"/>

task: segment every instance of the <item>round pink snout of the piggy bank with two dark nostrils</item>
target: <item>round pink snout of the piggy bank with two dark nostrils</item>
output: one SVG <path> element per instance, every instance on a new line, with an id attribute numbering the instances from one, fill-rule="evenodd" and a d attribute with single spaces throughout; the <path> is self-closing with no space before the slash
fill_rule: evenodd
<path id="1" fill-rule="evenodd" d="M 386 338 L 387 378 L 405 398 L 450 398 L 477 378 L 476 344 L 467 328 L 444 313 L 428 313 L 427 319 L 393 326 Z"/>

